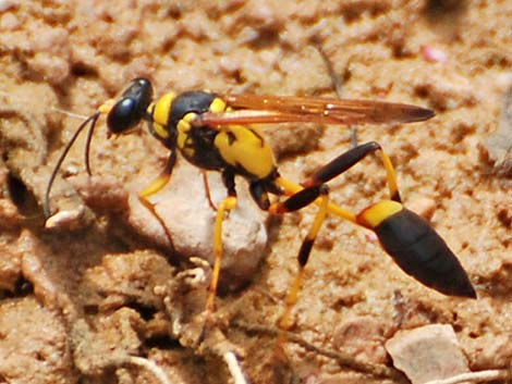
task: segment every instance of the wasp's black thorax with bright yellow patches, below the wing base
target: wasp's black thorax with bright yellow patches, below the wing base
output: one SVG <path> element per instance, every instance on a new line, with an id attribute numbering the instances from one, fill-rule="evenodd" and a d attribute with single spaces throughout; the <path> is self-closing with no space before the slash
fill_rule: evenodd
<path id="1" fill-rule="evenodd" d="M 191 121 L 205 112 L 220 113 L 229 106 L 207 91 L 172 92 L 149 106 L 151 132 L 168 148 L 178 148 L 192 164 L 204 169 L 230 170 L 249 181 L 272 178 L 276 162 L 261 134 L 252 126 L 194 126 Z"/>

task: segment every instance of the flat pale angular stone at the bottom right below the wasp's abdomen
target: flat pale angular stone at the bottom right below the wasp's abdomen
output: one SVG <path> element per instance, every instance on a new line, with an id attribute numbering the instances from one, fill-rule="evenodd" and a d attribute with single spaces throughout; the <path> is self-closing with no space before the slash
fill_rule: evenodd
<path id="1" fill-rule="evenodd" d="M 397 369 L 413 384 L 470 372 L 451 325 L 431 324 L 399 331 L 386 343 Z"/>

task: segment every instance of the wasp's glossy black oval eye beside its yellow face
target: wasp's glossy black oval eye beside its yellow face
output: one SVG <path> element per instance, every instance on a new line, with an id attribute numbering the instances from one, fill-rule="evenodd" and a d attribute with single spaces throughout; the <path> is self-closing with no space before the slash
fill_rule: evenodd
<path id="1" fill-rule="evenodd" d="M 146 78 L 136 78 L 107 115 L 112 134 L 122 134 L 135 127 L 151 102 L 153 88 Z"/>

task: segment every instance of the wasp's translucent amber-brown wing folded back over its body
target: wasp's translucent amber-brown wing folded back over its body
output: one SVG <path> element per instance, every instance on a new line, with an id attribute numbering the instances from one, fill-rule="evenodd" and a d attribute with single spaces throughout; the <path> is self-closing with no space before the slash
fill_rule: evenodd
<path id="1" fill-rule="evenodd" d="M 219 95 L 232 110 L 203 113 L 196 124 L 385 124 L 428 120 L 434 111 L 410 104 L 357 99 Z"/>

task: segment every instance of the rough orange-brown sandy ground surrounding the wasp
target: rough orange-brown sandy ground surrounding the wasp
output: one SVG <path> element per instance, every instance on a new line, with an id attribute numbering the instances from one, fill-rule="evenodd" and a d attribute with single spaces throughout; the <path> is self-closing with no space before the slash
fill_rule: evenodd
<path id="1" fill-rule="evenodd" d="M 451 325 L 472 371 L 510 368 L 511 23 L 507 0 L 0 1 L 0 382 L 162 382 L 143 360 L 173 384 L 228 383 L 234 351 L 253 383 L 404 383 L 386 342 L 428 324 Z M 200 260 L 212 260 L 215 212 L 200 173 L 179 159 L 153 200 L 159 222 L 136 194 L 168 151 L 145 128 L 107 140 L 105 120 L 93 177 L 78 139 L 52 190 L 56 227 L 44 227 L 50 173 L 82 121 L 62 111 L 90 115 L 137 76 L 157 95 L 336 97 L 317 44 L 343 97 L 436 111 L 424 123 L 359 126 L 357 137 L 390 154 L 404 203 L 458 255 L 477 300 L 424 287 L 371 233 L 329 216 L 291 335 L 277 348 L 315 209 L 268 218 L 237 181 L 241 208 L 224 233 L 227 294 L 202 340 L 210 271 Z M 350 132 L 265 127 L 280 172 L 294 181 L 348 150 Z M 218 175 L 208 177 L 219 201 Z M 367 159 L 330 183 L 331 196 L 358 212 L 386 197 L 385 182 Z"/>

